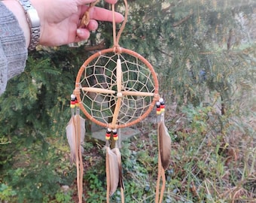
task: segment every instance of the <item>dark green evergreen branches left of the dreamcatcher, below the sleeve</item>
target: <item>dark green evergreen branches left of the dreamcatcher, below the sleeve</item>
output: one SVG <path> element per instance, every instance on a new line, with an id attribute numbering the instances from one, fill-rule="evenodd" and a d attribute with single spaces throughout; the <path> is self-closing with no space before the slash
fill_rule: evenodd
<path id="1" fill-rule="evenodd" d="M 62 57 L 59 53 L 32 54 L 25 71 L 9 81 L 0 97 L 0 167 L 4 180 L 19 191 L 18 202 L 47 202 L 45 199 L 54 198 L 61 184 L 70 184 L 74 178 L 67 159 L 61 165 L 59 159 L 68 153 L 61 145 L 70 117 L 75 68 L 68 59 L 56 63 L 55 59 Z M 60 142 L 55 145 L 55 140 Z"/>

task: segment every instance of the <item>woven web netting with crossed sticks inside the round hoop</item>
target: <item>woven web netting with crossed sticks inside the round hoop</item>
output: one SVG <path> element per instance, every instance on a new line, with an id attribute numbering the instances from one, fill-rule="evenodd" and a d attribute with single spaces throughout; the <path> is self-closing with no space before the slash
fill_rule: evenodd
<path id="1" fill-rule="evenodd" d="M 117 116 L 120 128 L 131 126 L 136 120 L 139 122 L 154 107 L 158 84 L 154 69 L 148 68 L 149 63 L 140 55 L 99 53 L 90 62 L 84 62 L 77 83 L 79 80 L 82 111 L 86 111 L 84 113 L 90 120 L 108 126 L 117 104 L 117 59 L 120 59 L 121 66 L 122 95 Z"/>

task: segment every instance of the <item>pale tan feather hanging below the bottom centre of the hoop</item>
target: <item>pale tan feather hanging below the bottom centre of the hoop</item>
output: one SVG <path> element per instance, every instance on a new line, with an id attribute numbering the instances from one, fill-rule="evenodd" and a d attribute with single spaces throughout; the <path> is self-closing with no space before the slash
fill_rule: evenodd
<path id="1" fill-rule="evenodd" d="M 108 153 L 108 165 L 109 165 L 109 177 L 110 177 L 110 191 L 109 195 L 113 195 L 117 190 L 119 182 L 119 168 L 117 155 L 110 150 L 110 147 L 106 147 L 106 153 Z"/>

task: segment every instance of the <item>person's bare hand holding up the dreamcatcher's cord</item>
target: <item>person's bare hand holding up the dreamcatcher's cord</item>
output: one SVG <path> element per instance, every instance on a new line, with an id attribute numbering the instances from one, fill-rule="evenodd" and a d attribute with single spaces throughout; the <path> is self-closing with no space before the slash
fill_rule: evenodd
<path id="1" fill-rule="evenodd" d="M 91 2 L 96 0 L 31 0 L 41 20 L 39 44 L 59 46 L 78 42 L 90 37 L 90 31 L 98 28 L 96 20 L 112 21 L 112 13 L 104 8 L 90 9 L 90 22 L 85 28 L 79 28 L 81 18 L 88 10 Z M 117 0 L 105 0 L 114 4 Z M 119 13 L 115 14 L 117 23 L 123 20 Z"/>

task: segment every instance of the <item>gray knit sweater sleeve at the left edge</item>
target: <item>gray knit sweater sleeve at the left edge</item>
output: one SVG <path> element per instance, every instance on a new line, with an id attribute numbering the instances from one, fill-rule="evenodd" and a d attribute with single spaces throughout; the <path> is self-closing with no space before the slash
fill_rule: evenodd
<path id="1" fill-rule="evenodd" d="M 24 70 L 27 56 L 23 30 L 14 14 L 0 2 L 0 95 L 8 80 Z"/>

